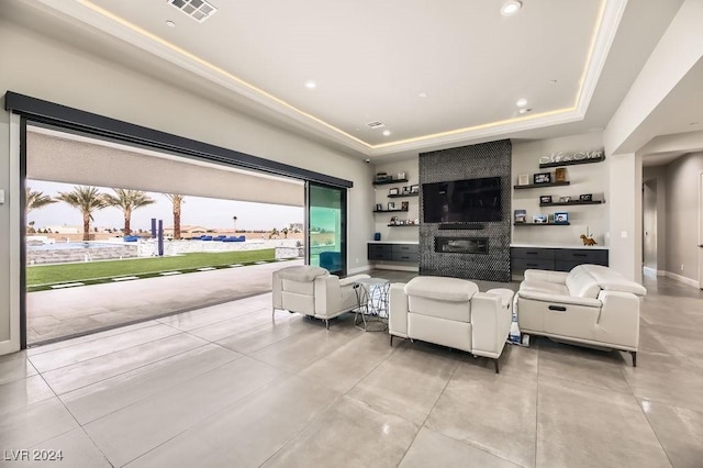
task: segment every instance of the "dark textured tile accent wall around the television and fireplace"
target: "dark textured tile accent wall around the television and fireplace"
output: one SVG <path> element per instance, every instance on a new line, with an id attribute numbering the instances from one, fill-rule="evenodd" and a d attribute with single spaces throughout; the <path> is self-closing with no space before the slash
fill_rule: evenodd
<path id="1" fill-rule="evenodd" d="M 420 183 L 449 180 L 501 178 L 502 221 L 481 223 L 481 230 L 442 230 L 439 224 L 420 225 L 420 275 L 509 282 L 511 235 L 510 140 L 420 154 Z M 420 218 L 424 203 L 420 193 Z M 489 253 L 444 254 L 435 252 L 438 237 L 488 237 Z"/>

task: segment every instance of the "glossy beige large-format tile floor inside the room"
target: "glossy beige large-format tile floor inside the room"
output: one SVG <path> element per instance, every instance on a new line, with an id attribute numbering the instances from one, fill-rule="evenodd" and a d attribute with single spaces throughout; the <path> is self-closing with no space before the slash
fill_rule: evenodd
<path id="1" fill-rule="evenodd" d="M 495 375 L 269 293 L 3 356 L 0 466 L 701 467 L 703 292 L 646 286 L 637 368 L 536 339 Z"/>

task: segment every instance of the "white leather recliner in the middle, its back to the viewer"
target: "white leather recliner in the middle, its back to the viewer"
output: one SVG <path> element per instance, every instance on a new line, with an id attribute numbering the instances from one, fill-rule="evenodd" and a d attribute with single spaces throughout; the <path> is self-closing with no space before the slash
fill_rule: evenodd
<path id="1" fill-rule="evenodd" d="M 510 333 L 514 292 L 479 292 L 475 282 L 422 276 L 390 289 L 388 330 L 391 335 L 421 339 L 498 359 Z"/>

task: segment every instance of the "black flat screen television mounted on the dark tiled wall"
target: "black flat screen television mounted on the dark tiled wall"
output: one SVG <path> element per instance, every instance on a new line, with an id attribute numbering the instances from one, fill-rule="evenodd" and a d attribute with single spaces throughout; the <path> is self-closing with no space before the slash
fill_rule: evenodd
<path id="1" fill-rule="evenodd" d="M 501 178 L 423 183 L 425 223 L 501 221 Z"/>

